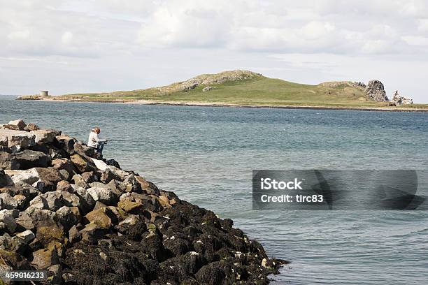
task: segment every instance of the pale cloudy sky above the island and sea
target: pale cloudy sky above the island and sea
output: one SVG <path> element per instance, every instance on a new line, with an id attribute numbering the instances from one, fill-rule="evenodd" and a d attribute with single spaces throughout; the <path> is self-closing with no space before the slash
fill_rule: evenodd
<path id="1" fill-rule="evenodd" d="M 0 0 L 0 94 L 108 92 L 246 69 L 381 80 L 428 103 L 428 1 Z"/>

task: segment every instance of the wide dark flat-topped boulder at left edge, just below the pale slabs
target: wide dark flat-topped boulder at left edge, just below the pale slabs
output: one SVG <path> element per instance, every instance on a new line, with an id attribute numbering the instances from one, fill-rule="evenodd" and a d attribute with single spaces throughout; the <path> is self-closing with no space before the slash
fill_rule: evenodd
<path id="1" fill-rule="evenodd" d="M 50 156 L 43 152 L 25 149 L 22 152 L 9 154 L 8 152 L 0 152 L 0 168 L 6 169 L 29 169 L 34 167 L 50 166 Z"/>

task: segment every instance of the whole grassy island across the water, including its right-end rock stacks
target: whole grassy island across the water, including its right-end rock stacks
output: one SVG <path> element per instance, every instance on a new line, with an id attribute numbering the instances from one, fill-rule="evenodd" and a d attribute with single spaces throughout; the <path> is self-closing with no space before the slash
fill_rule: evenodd
<path id="1" fill-rule="evenodd" d="M 414 104 L 396 91 L 388 98 L 383 83 L 352 81 L 304 85 L 268 78 L 252 71 L 203 74 L 162 87 L 106 93 L 60 96 L 21 96 L 23 100 L 95 101 L 168 105 L 231 107 L 320 108 L 349 110 L 428 111 L 428 104 Z"/>

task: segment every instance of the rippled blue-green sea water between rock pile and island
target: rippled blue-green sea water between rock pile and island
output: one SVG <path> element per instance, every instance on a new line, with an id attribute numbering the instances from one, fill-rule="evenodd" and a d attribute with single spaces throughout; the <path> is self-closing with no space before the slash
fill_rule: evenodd
<path id="1" fill-rule="evenodd" d="M 428 212 L 251 210 L 252 169 L 428 169 L 428 114 L 12 101 L 22 118 L 81 140 L 92 126 L 117 159 L 228 217 L 270 256 L 276 284 L 427 284 Z"/>

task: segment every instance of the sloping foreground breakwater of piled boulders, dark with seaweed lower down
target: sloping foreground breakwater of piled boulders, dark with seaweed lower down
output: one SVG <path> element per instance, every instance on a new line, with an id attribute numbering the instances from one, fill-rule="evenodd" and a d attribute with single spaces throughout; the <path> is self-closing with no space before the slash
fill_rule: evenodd
<path id="1" fill-rule="evenodd" d="M 267 284 L 285 261 L 61 131 L 0 126 L 0 269 L 43 284 Z M 1 282 L 0 282 L 1 283 Z"/>

